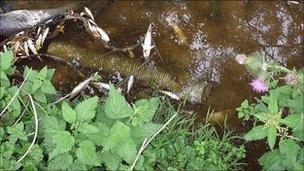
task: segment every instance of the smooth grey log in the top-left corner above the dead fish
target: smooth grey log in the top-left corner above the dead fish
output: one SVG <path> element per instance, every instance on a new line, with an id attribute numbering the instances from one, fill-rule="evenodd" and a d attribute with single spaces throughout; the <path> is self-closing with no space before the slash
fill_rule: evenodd
<path id="1" fill-rule="evenodd" d="M 77 5 L 78 3 L 73 2 L 54 9 L 15 10 L 0 14 L 0 36 L 10 36 L 22 30 L 45 24 L 66 15 L 68 10 L 76 8 Z"/>

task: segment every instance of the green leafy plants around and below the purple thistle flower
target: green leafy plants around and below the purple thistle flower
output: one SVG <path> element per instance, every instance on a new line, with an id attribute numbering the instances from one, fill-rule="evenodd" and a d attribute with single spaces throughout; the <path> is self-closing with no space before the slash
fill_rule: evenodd
<path id="1" fill-rule="evenodd" d="M 245 140 L 266 139 L 271 151 L 265 153 L 259 164 L 265 170 L 304 170 L 304 72 L 288 70 L 274 62 L 249 58 L 248 68 L 268 79 L 270 91 L 249 104 L 245 100 L 239 108 L 238 117 L 255 121 L 254 127 L 244 135 Z M 252 61 L 262 61 L 260 63 Z M 266 70 L 258 70 L 261 65 Z M 285 84 L 279 85 L 276 74 L 286 75 Z"/>

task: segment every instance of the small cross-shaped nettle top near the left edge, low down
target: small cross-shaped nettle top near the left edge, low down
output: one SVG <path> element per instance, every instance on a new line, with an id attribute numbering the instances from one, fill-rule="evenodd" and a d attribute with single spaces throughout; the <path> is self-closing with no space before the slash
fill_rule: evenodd
<path id="1" fill-rule="evenodd" d="M 16 142 L 18 139 L 27 140 L 26 132 L 24 131 L 24 124 L 20 122 L 16 124 L 14 127 L 7 127 L 7 132 L 11 134 L 9 139 L 12 142 Z"/>

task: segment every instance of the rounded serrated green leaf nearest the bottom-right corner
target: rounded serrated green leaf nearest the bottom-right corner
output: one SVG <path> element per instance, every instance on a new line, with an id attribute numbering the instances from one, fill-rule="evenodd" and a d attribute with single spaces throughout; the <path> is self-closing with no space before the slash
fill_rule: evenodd
<path id="1" fill-rule="evenodd" d="M 288 160 L 295 161 L 297 159 L 297 155 L 301 148 L 293 140 L 284 139 L 280 141 L 279 149 L 281 154 L 285 155 L 288 158 Z"/>

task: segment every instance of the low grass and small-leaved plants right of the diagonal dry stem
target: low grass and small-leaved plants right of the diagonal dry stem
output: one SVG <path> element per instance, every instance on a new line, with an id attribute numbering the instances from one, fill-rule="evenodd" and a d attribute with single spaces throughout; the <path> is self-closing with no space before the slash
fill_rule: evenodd
<path id="1" fill-rule="evenodd" d="M 166 103 L 166 112 L 174 113 Z M 169 112 L 168 112 L 169 110 Z M 170 112 L 171 110 L 171 112 Z M 162 117 L 161 117 L 162 118 Z M 151 143 L 141 158 L 139 170 L 237 170 L 245 157 L 244 146 L 234 146 L 231 132 L 220 137 L 206 123 L 196 126 L 195 116 L 177 116 Z"/>

